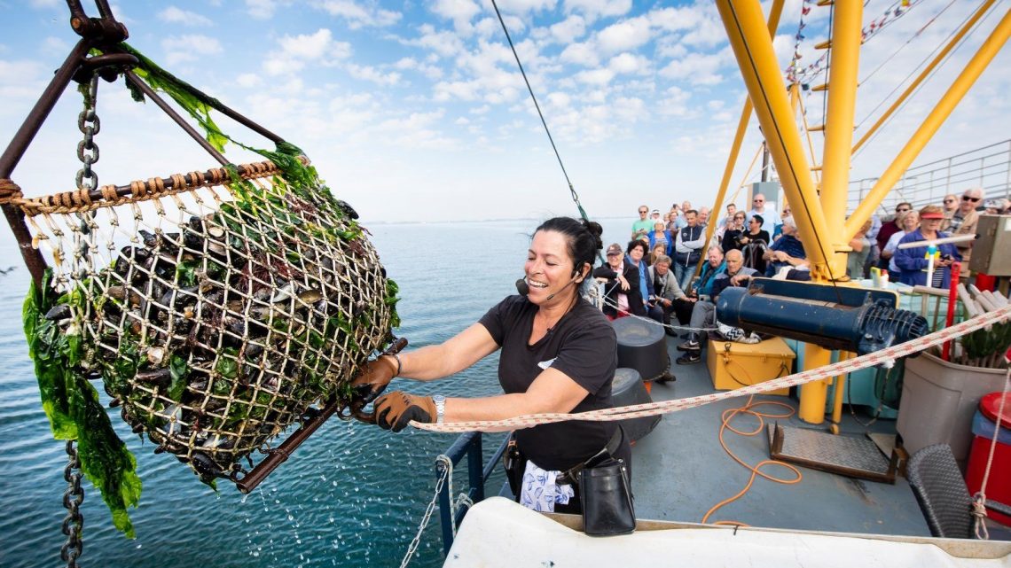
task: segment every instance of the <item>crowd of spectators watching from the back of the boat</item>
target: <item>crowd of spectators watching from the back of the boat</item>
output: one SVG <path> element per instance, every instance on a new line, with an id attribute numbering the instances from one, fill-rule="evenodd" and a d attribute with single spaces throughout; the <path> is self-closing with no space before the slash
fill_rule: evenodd
<path id="1" fill-rule="evenodd" d="M 932 262 L 926 245 L 900 245 L 975 234 L 980 215 L 1011 212 L 1011 201 L 983 203 L 983 197 L 982 188 L 970 188 L 960 196 L 946 195 L 941 205 L 914 210 L 903 202 L 896 205 L 894 215 L 874 216 L 849 243 L 846 276 L 867 278 L 878 267 L 901 283 L 926 285 L 929 269 L 929 284 L 946 287 L 956 262 L 968 276 L 972 242 L 937 246 Z M 593 271 L 604 283 L 605 314 L 611 319 L 648 316 L 675 336 L 673 319 L 693 329 L 715 323 L 716 298 L 728 286 L 747 286 L 754 276 L 810 280 L 810 265 L 790 205 L 785 203 L 783 211 L 776 211 L 761 193 L 754 195 L 751 205 L 744 211 L 731 203 L 719 219 L 711 219 L 708 208 L 695 209 L 688 201 L 663 213 L 641 205 L 628 245 L 608 247 L 607 264 Z M 711 221 L 717 225 L 707 239 Z M 682 339 L 686 342 L 678 349 L 685 353 L 677 363 L 698 362 L 700 337 L 690 333 Z"/>

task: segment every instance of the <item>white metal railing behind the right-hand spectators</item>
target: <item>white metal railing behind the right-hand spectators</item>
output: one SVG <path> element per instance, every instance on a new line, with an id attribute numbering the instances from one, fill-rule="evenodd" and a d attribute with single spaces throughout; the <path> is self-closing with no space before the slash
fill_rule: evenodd
<path id="1" fill-rule="evenodd" d="M 847 210 L 855 209 L 877 181 L 850 181 Z M 903 201 L 912 203 L 913 208 L 940 205 L 945 195 L 959 195 L 970 187 L 982 187 L 987 199 L 1011 197 L 1011 139 L 910 168 L 882 200 L 879 210 L 891 214 Z"/>

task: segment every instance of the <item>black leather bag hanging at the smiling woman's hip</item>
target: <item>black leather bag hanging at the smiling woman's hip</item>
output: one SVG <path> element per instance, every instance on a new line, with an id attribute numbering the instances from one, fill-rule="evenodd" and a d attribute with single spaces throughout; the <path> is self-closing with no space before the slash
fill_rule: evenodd
<path id="1" fill-rule="evenodd" d="M 635 507 L 624 460 L 610 456 L 579 470 L 582 530 L 591 537 L 635 531 Z"/>

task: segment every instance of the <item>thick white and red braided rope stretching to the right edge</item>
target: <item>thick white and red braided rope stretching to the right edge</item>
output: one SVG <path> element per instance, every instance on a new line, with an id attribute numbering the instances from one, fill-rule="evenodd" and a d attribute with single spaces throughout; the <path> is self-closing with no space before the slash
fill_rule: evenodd
<path id="1" fill-rule="evenodd" d="M 823 380 L 835 375 L 852 373 L 875 365 L 894 363 L 900 357 L 924 351 L 933 346 L 959 338 L 987 325 L 997 323 L 1011 316 L 1011 304 L 1005 305 L 995 311 L 990 311 L 978 315 L 972 319 L 967 319 L 950 327 L 945 327 L 933 334 L 910 340 L 906 343 L 892 346 L 867 355 L 862 355 L 854 359 L 847 359 L 839 363 L 833 363 L 825 367 L 810 369 L 795 373 L 793 375 L 771 379 L 753 386 L 738 388 L 726 392 L 704 394 L 688 398 L 678 398 L 674 400 L 663 400 L 659 402 L 648 402 L 645 404 L 634 404 L 630 406 L 620 406 L 617 408 L 605 408 L 601 410 L 589 410 L 586 412 L 546 412 L 540 414 L 525 414 L 500 420 L 472 420 L 466 422 L 450 423 L 422 423 L 411 420 L 410 425 L 430 432 L 441 433 L 463 433 L 463 432 L 505 432 L 510 430 L 523 430 L 539 424 L 555 423 L 568 420 L 585 421 L 615 421 L 628 418 L 638 418 L 643 416 L 653 416 L 664 414 L 675 410 L 694 408 L 704 404 L 711 404 L 729 398 L 739 396 L 749 396 L 770 390 L 788 388 L 813 381 Z"/>

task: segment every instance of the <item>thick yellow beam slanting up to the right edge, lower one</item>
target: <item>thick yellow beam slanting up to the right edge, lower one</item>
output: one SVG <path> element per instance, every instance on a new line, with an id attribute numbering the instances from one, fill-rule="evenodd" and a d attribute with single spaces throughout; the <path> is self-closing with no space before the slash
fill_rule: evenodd
<path id="1" fill-rule="evenodd" d="M 892 161 L 892 164 L 885 170 L 878 182 L 875 183 L 875 186 L 870 188 L 867 196 L 856 207 L 856 210 L 849 216 L 849 219 L 846 220 L 845 234 L 843 234 L 846 242 L 852 239 L 856 234 L 856 231 L 859 230 L 860 225 L 870 218 L 875 209 L 881 204 L 882 199 L 892 190 L 895 183 L 899 181 L 903 173 L 913 163 L 913 160 L 919 156 L 923 147 L 930 141 L 930 138 L 941 127 L 944 120 L 951 115 L 951 111 L 958 105 L 961 98 L 966 96 L 970 87 L 980 78 L 983 70 L 990 65 L 990 62 L 997 56 L 997 53 L 1001 51 L 1001 48 L 1007 42 L 1009 36 L 1011 36 L 1011 10 L 1004 13 L 1004 17 L 1001 18 L 1000 23 L 997 24 L 997 27 L 994 28 L 983 44 L 980 45 L 980 50 L 973 56 L 969 64 L 966 65 L 966 69 L 954 80 L 947 92 L 944 93 L 944 96 L 941 97 L 941 100 L 937 102 L 937 105 L 934 106 L 930 114 L 923 120 L 920 127 L 917 128 L 916 132 L 909 138 L 909 141 L 906 143 L 906 146 L 899 152 L 899 155 Z"/>

